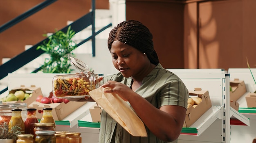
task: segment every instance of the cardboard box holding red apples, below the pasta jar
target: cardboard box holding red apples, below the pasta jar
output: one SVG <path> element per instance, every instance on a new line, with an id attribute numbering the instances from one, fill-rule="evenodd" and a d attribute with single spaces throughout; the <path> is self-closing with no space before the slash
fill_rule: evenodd
<path id="1" fill-rule="evenodd" d="M 83 106 L 86 102 L 76 102 L 70 101 L 67 103 L 51 103 L 51 104 L 44 104 L 37 101 L 32 102 L 29 104 L 29 108 L 36 108 L 36 117 L 41 119 L 43 116 L 43 108 L 52 108 L 52 116 L 55 121 L 61 121 L 68 115 L 70 115 L 73 111 L 78 109 L 79 107 Z"/>

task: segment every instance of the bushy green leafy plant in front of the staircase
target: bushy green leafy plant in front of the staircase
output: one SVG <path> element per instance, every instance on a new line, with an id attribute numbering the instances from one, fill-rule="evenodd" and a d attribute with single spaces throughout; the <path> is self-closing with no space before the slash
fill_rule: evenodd
<path id="1" fill-rule="evenodd" d="M 45 62 L 40 66 L 43 73 L 70 73 L 70 61 L 68 57 L 74 55 L 72 51 L 77 47 L 76 43 L 72 40 L 75 35 L 71 26 L 68 27 L 67 32 L 57 31 L 49 36 L 49 41 L 44 41 L 36 49 L 41 49 L 49 54 L 50 58 L 45 58 Z M 46 35 L 44 35 L 46 36 Z"/>

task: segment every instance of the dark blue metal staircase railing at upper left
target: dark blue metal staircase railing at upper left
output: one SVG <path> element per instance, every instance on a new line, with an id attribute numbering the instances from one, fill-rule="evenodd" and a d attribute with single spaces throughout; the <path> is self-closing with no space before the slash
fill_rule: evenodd
<path id="1" fill-rule="evenodd" d="M 30 9 L 29 11 L 23 13 L 22 15 L 16 17 L 15 19 L 11 20 L 7 24 L 4 24 L 0 27 L 0 32 L 10 28 L 11 26 L 17 24 L 18 22 L 24 20 L 25 18 L 29 17 L 30 15 L 36 13 L 40 9 L 43 9 L 44 7 L 48 6 L 49 4 L 52 4 L 56 0 L 46 0 L 45 2 L 42 2 L 41 4 L 38 4 L 34 8 Z M 87 39 L 84 39 L 80 43 L 77 44 L 77 47 L 82 45 L 83 43 L 92 40 L 92 56 L 95 56 L 95 36 L 98 35 L 100 32 L 105 30 L 106 28 L 112 26 L 112 24 L 108 24 L 107 26 L 104 26 L 99 31 L 95 32 L 95 0 L 92 0 L 92 10 L 90 13 L 84 15 L 83 17 L 79 18 L 78 20 L 74 21 L 72 24 L 64 27 L 61 29 L 63 32 L 67 32 L 67 28 L 71 26 L 72 30 L 74 30 L 76 33 L 80 32 L 81 30 L 87 28 L 88 26 L 92 25 L 92 35 L 89 36 Z M 55 34 L 55 33 L 54 33 Z M 48 41 L 49 39 L 46 38 L 43 41 Z M 30 61 L 33 61 L 35 58 L 40 56 L 44 53 L 43 50 L 36 50 L 38 45 L 43 44 L 43 41 L 40 41 L 39 43 L 33 45 L 28 50 L 18 54 L 17 56 L 11 58 L 6 63 L 0 65 L 0 80 L 6 76 L 8 76 L 8 73 L 12 73 L 16 70 L 18 70 L 20 67 L 26 65 Z M 39 67 L 39 65 L 38 65 Z M 36 69 L 37 70 L 37 69 Z M 7 88 L 0 91 L 0 95 L 7 91 Z"/>

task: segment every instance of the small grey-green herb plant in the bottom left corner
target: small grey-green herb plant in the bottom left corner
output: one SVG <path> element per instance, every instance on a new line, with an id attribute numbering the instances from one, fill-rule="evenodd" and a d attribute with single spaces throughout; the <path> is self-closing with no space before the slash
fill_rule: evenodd
<path id="1" fill-rule="evenodd" d="M 0 139 L 16 139 L 20 132 L 21 128 L 19 126 L 13 126 L 9 130 L 9 125 L 7 122 L 0 124 Z"/>

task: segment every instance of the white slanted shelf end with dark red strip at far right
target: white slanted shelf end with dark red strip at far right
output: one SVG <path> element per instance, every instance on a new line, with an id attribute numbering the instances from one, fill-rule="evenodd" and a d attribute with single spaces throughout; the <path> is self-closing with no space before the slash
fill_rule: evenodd
<path id="1" fill-rule="evenodd" d="M 230 107 L 229 112 L 230 117 L 230 125 L 246 125 L 250 126 L 250 120 L 249 118 L 245 117 L 238 111 L 236 111 L 234 108 Z"/>

